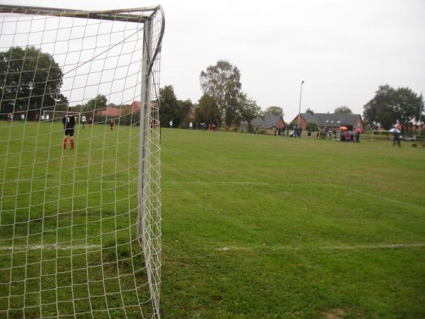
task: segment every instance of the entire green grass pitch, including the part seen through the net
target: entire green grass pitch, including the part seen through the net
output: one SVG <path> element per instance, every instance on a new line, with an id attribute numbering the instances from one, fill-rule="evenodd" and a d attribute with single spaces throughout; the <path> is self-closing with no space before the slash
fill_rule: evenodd
<path id="1" fill-rule="evenodd" d="M 137 137 L 95 125 L 62 152 L 60 126 L 36 126 L 0 123 L 1 314 L 136 318 Z M 162 318 L 425 318 L 425 149 L 409 146 L 162 129 Z"/>

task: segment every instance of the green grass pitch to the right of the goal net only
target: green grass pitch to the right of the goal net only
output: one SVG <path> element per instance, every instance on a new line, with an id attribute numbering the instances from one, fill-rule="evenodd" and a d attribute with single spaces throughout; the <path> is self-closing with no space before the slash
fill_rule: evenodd
<path id="1" fill-rule="evenodd" d="M 163 318 L 425 318 L 425 149 L 162 134 Z"/>

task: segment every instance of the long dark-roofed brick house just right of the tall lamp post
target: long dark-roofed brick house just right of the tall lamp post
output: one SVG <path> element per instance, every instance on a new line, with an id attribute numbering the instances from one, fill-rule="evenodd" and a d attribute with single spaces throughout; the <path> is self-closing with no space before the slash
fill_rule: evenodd
<path id="1" fill-rule="evenodd" d="M 292 122 L 297 123 L 298 116 L 295 116 Z M 360 114 L 301 113 L 300 126 L 302 130 L 307 128 L 308 123 L 316 123 L 319 128 L 328 128 L 331 130 L 339 130 L 341 126 L 346 126 L 348 130 L 354 127 L 364 130 L 364 124 Z"/>

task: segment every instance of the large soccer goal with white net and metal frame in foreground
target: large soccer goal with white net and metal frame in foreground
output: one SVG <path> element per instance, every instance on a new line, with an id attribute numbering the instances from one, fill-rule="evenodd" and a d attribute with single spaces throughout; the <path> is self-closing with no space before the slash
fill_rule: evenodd
<path id="1" fill-rule="evenodd" d="M 0 5 L 0 318 L 159 318 L 163 33 Z"/>

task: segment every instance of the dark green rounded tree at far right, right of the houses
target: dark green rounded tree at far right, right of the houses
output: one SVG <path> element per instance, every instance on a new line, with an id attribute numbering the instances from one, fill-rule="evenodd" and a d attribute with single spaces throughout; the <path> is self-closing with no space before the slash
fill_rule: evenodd
<path id="1" fill-rule="evenodd" d="M 419 97 L 409 88 L 381 85 L 373 99 L 363 106 L 363 117 L 366 124 L 372 127 L 380 124 L 387 130 L 398 122 L 404 133 L 411 121 L 417 119 L 419 103 Z"/>

